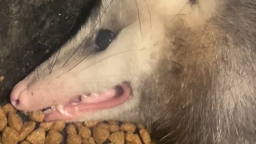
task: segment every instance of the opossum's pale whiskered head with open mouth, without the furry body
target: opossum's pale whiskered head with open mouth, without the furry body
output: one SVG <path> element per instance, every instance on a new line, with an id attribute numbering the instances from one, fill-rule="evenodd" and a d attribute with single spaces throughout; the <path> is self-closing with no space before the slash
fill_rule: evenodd
<path id="1" fill-rule="evenodd" d="M 161 96 L 153 84 L 158 65 L 172 59 L 170 31 L 181 21 L 202 24 L 214 9 L 211 1 L 201 8 L 194 3 L 102 1 L 74 38 L 14 87 L 12 104 L 25 111 L 50 108 L 46 121 L 148 119 L 153 97 Z M 204 3 L 211 9 L 204 11 Z M 181 18 L 181 11 L 187 15 Z"/>

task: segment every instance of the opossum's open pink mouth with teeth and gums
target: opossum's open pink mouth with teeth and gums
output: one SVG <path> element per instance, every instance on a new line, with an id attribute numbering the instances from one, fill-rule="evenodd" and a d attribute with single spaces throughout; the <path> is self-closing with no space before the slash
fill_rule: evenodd
<path id="1" fill-rule="evenodd" d="M 130 84 L 122 83 L 100 93 L 78 95 L 68 103 L 44 108 L 43 110 L 46 113 L 44 121 L 55 119 L 71 121 L 74 117 L 81 114 L 85 115 L 89 111 L 115 107 L 129 99 L 131 93 Z"/>

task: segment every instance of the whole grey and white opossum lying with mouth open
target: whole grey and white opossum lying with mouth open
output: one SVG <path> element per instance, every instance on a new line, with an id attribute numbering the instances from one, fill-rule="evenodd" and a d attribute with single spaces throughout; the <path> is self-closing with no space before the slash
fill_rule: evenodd
<path id="1" fill-rule="evenodd" d="M 45 121 L 116 119 L 168 143 L 256 143 L 256 1 L 102 0 L 12 90 Z"/>

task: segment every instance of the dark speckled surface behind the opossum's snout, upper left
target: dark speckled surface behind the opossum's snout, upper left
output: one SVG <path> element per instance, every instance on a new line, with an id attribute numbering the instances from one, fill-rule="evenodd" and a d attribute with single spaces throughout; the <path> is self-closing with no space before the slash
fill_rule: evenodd
<path id="1" fill-rule="evenodd" d="M 0 105 L 12 87 L 73 36 L 90 0 L 0 0 Z"/>

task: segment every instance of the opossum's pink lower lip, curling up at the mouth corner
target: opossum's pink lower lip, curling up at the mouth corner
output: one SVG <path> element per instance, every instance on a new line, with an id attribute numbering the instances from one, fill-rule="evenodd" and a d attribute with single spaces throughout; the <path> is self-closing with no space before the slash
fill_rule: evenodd
<path id="1" fill-rule="evenodd" d="M 63 105 L 62 113 L 60 113 L 56 109 L 51 110 L 49 114 L 45 115 L 44 121 L 53 121 L 57 119 L 71 121 L 79 117 L 85 117 L 87 114 L 93 113 L 95 111 L 109 109 L 122 105 L 122 103 L 126 102 L 130 98 L 132 90 L 129 84 L 121 84 L 119 86 L 122 87 L 123 93 L 121 95 L 118 95 L 118 97 L 113 97 L 98 103 L 78 102 L 75 105 L 66 104 Z"/>

